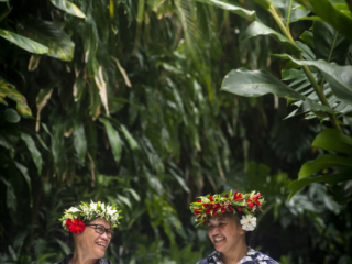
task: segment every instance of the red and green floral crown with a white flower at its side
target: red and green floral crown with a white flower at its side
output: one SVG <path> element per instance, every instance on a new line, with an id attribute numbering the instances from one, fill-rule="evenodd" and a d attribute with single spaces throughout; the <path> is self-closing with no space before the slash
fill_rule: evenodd
<path id="1" fill-rule="evenodd" d="M 218 195 L 200 196 L 200 200 L 190 204 L 190 210 L 196 215 L 196 227 L 206 224 L 211 217 L 217 213 L 232 212 L 233 215 L 243 212 L 241 224 L 242 229 L 253 231 L 256 227 L 256 218 L 254 217 L 255 210 L 262 211 L 265 204 L 264 198 L 255 190 L 249 194 L 235 193 L 227 190 Z"/>

